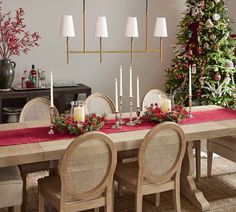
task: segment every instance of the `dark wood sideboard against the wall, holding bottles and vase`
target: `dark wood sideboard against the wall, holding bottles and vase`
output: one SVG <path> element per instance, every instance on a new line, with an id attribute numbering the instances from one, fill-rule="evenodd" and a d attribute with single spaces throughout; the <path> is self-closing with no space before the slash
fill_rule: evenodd
<path id="1" fill-rule="evenodd" d="M 54 102 L 55 106 L 60 113 L 64 113 L 66 109 L 66 102 L 71 100 L 77 100 L 79 94 L 85 94 L 88 97 L 91 94 L 91 88 L 84 85 L 78 84 L 78 86 L 71 87 L 54 87 Z M 3 107 L 23 107 L 29 100 L 40 97 L 50 96 L 50 89 L 25 89 L 25 90 L 14 90 L 7 92 L 0 92 L 0 123 L 4 122 L 3 119 Z"/>

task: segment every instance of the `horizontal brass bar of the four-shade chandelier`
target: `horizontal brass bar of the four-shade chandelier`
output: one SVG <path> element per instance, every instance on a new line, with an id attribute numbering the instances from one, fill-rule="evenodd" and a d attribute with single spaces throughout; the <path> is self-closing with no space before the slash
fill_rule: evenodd
<path id="1" fill-rule="evenodd" d="M 148 50 L 133 50 L 133 53 L 152 53 L 152 52 L 160 52 L 160 49 L 148 49 Z M 84 51 L 69 51 L 69 54 L 99 54 L 100 50 L 88 50 Z M 131 50 L 102 50 L 102 53 L 112 54 L 112 53 L 131 53 Z"/>

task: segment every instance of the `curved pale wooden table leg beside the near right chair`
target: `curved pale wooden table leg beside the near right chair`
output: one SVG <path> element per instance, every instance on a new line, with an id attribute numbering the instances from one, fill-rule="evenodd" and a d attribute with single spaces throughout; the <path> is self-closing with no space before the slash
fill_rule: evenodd
<path id="1" fill-rule="evenodd" d="M 181 169 L 181 194 L 201 211 L 207 211 L 209 210 L 209 202 L 203 196 L 203 193 L 197 189 L 192 176 L 194 172 L 192 148 L 193 142 L 188 142 Z"/>

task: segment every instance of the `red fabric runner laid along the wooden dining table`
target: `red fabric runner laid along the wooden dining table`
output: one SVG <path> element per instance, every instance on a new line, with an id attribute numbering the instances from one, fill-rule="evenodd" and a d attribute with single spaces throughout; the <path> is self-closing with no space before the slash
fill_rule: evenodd
<path id="1" fill-rule="evenodd" d="M 192 113 L 193 118 L 188 118 L 179 124 L 195 124 L 210 121 L 230 120 L 236 119 L 236 111 L 230 109 L 215 109 L 208 111 L 199 111 Z M 143 122 L 136 126 L 122 125 L 121 129 L 112 129 L 114 120 L 109 120 L 100 130 L 101 132 L 119 133 L 127 131 L 150 129 L 156 125 L 153 122 Z M 37 127 L 18 130 L 0 131 L 0 146 L 10 146 L 26 143 L 37 143 L 45 141 L 62 140 L 67 138 L 75 138 L 75 135 L 61 134 L 56 132 L 54 135 L 48 134 L 49 127 Z"/>

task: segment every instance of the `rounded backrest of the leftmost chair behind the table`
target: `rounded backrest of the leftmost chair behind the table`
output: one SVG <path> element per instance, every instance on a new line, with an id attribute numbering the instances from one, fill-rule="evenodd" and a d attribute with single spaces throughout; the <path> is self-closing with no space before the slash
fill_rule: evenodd
<path id="1" fill-rule="evenodd" d="M 56 116 L 59 115 L 56 108 L 54 112 Z M 44 97 L 37 97 L 27 102 L 20 114 L 20 122 L 49 119 L 50 101 Z"/>

